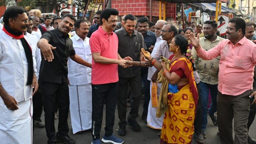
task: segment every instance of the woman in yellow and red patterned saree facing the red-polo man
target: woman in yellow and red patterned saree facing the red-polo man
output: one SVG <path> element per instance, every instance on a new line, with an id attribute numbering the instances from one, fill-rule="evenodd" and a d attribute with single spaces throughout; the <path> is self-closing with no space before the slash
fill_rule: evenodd
<path id="1" fill-rule="evenodd" d="M 188 40 L 177 35 L 169 44 L 170 68 L 162 62 L 163 75 L 169 82 L 168 109 L 164 114 L 161 144 L 191 144 L 194 133 L 194 119 L 198 101 L 193 76 L 193 59 L 187 53 Z M 178 92 L 171 93 L 170 84 L 177 85 Z"/>

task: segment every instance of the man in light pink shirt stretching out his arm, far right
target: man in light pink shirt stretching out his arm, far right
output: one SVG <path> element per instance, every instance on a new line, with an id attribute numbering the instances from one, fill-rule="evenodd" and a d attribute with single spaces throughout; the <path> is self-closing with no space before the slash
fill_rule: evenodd
<path id="1" fill-rule="evenodd" d="M 199 44 L 199 35 L 189 38 L 199 57 L 212 60 L 220 55 L 218 74 L 217 117 L 221 144 L 247 144 L 247 122 L 252 94 L 256 45 L 245 37 L 246 23 L 232 18 L 226 30 L 227 39 L 209 51 Z M 256 93 L 255 93 L 256 95 Z M 235 140 L 232 137 L 234 118 Z"/>

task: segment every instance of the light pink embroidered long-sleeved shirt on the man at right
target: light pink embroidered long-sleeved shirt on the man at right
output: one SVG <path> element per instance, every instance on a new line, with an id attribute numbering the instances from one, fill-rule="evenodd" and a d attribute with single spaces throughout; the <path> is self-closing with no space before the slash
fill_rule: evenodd
<path id="1" fill-rule="evenodd" d="M 212 60 L 220 55 L 218 90 L 222 94 L 237 96 L 252 89 L 256 45 L 246 37 L 235 45 L 225 39 L 209 51 L 201 47 L 197 54 L 203 60 Z"/>

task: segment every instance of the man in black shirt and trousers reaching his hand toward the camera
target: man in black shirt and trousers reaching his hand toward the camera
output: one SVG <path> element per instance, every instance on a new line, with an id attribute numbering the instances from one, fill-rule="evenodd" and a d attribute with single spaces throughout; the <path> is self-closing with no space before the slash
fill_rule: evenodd
<path id="1" fill-rule="evenodd" d="M 68 33 L 74 26 L 75 21 L 72 15 L 64 15 L 58 28 L 47 31 L 38 42 L 38 47 L 43 54 L 39 82 L 44 99 L 43 109 L 45 111 L 45 129 L 48 144 L 55 144 L 56 138 L 63 143 L 75 144 L 75 141 L 68 136 L 67 119 L 70 105 L 68 57 L 78 64 L 91 67 L 90 63 L 75 54 L 72 40 L 69 38 Z M 58 132 L 55 136 L 54 113 L 56 112 L 56 103 L 59 108 L 59 123 Z"/>

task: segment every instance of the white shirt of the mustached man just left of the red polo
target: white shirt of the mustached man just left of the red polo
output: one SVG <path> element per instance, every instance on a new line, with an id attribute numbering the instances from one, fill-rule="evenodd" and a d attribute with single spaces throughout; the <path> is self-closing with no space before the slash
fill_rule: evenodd
<path id="1" fill-rule="evenodd" d="M 82 40 L 77 34 L 71 37 L 75 53 L 83 60 L 92 63 L 92 53 L 90 51 L 89 38 Z M 92 69 L 77 64 L 68 58 L 68 79 L 71 85 L 83 85 L 91 83 Z"/>

